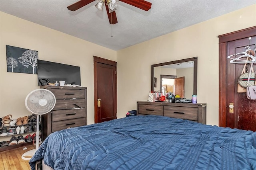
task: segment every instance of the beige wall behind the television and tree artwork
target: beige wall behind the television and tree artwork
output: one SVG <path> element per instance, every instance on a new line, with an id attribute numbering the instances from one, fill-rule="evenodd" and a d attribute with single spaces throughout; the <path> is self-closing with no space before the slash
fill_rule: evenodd
<path id="1" fill-rule="evenodd" d="M 93 55 L 116 61 L 116 51 L 0 12 L 0 116 L 30 115 L 24 100 L 37 86 L 37 74 L 7 72 L 6 45 L 38 51 L 39 59 L 80 66 L 87 87 L 88 124 L 94 123 Z"/>

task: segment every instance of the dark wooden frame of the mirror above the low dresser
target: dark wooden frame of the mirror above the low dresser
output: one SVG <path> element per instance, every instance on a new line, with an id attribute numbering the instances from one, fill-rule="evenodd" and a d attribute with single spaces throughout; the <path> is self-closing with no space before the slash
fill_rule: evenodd
<path id="1" fill-rule="evenodd" d="M 193 87 L 193 94 L 197 94 L 197 57 L 192 57 L 188 59 L 176 60 L 176 61 L 169 61 L 166 63 L 159 63 L 159 64 L 152 64 L 151 65 L 151 92 L 154 92 L 154 68 L 158 66 L 165 66 L 169 64 L 178 64 L 194 61 L 194 87 Z"/>

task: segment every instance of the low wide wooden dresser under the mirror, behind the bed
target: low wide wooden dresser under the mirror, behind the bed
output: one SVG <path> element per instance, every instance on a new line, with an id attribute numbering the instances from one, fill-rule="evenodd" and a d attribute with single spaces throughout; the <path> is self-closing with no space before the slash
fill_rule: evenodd
<path id="1" fill-rule="evenodd" d="M 206 104 L 137 102 L 137 115 L 161 115 L 206 124 Z"/>

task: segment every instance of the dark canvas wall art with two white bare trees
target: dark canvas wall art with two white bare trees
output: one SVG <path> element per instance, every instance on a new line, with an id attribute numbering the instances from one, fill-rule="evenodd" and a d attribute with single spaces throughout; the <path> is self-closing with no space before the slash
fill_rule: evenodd
<path id="1" fill-rule="evenodd" d="M 6 45 L 7 72 L 37 74 L 38 51 Z"/>

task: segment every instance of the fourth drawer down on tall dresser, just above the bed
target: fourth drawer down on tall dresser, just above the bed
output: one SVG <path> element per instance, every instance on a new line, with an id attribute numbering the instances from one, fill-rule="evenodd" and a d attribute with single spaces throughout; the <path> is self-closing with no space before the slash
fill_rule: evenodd
<path id="1" fill-rule="evenodd" d="M 78 127 L 83 125 L 85 125 L 85 117 L 63 121 L 54 121 L 52 122 L 52 132 L 67 129 L 68 127 Z"/>

